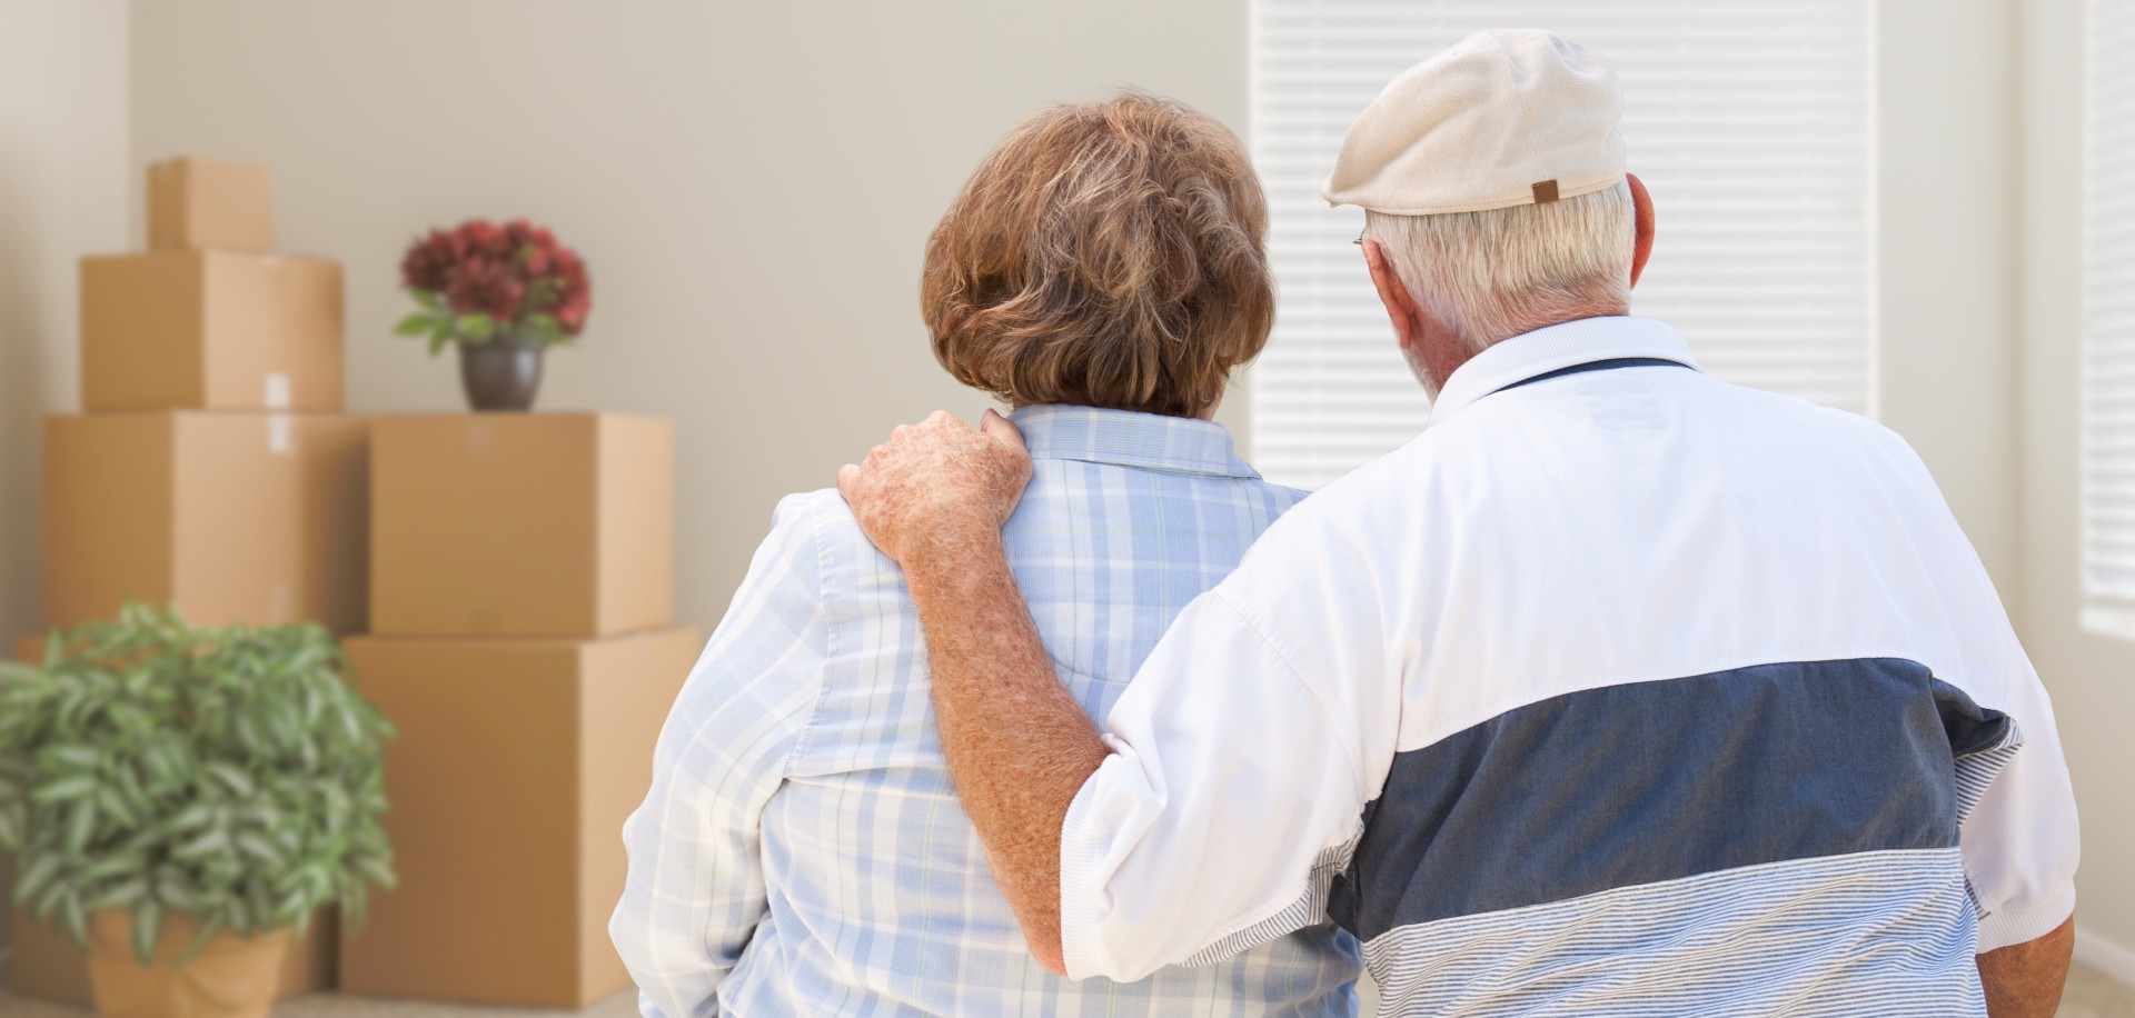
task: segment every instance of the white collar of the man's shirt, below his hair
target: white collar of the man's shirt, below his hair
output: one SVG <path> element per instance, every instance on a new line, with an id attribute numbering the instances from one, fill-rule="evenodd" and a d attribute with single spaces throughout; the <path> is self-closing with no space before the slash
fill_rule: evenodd
<path id="1" fill-rule="evenodd" d="M 1445 391 L 1430 405 L 1430 423 L 1437 425 L 1465 405 L 1529 378 L 1618 356 L 1652 356 L 1697 367 L 1682 333 L 1655 318 L 1610 316 L 1559 322 L 1497 341 L 1471 356 L 1445 380 Z"/>

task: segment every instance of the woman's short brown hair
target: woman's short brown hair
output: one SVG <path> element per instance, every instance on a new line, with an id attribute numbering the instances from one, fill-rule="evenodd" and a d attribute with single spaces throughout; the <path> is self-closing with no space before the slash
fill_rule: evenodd
<path id="1" fill-rule="evenodd" d="M 1268 205 L 1223 124 L 1142 94 L 1008 134 L 927 241 L 935 359 L 1010 405 L 1193 416 L 1275 322 Z"/>

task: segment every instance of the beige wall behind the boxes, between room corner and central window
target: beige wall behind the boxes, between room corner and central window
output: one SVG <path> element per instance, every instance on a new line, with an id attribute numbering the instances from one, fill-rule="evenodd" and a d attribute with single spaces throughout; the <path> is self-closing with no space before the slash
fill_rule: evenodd
<path id="1" fill-rule="evenodd" d="M 594 269 L 542 408 L 679 435 L 679 604 L 711 625 L 790 491 L 976 416 L 918 324 L 927 230 L 1031 109 L 1140 85 L 1245 122 L 1245 4 L 218 0 L 135 11 L 132 158 L 275 169 L 284 250 L 348 271 L 354 410 L 461 405 L 391 327 L 408 239 L 529 216 Z M 1243 403 L 1243 399 L 1238 401 Z"/>

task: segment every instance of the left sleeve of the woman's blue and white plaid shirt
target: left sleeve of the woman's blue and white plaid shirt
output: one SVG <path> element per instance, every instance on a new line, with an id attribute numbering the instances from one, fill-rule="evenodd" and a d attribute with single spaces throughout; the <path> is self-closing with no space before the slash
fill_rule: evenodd
<path id="1" fill-rule="evenodd" d="M 690 672 L 623 824 L 630 873 L 608 935 L 647 1016 L 719 1014 L 764 916 L 758 820 L 807 728 L 826 627 L 805 495 L 788 497 Z"/>

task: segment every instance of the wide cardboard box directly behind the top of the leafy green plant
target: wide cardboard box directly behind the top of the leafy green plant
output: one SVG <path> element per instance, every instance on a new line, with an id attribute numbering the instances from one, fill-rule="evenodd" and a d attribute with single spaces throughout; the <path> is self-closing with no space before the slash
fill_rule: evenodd
<path id="1" fill-rule="evenodd" d="M 45 625 L 130 595 L 194 625 L 359 632 L 367 472 L 359 416 L 47 416 Z"/>

